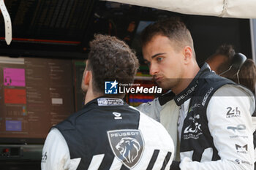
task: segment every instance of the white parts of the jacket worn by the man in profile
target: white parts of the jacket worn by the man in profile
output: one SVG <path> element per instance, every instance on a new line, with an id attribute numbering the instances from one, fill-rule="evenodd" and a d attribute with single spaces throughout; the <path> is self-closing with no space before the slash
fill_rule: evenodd
<path id="1" fill-rule="evenodd" d="M 221 160 L 210 161 L 211 151 L 203 152 L 201 162 L 192 161 L 191 152 L 181 152 L 181 170 L 254 169 L 252 133 L 256 125 L 252 125 L 254 117 L 251 115 L 255 110 L 255 99 L 249 96 L 252 96 L 249 90 L 237 85 L 225 85 L 214 93 L 206 114 L 208 128 Z M 178 140 L 181 136 L 184 118 L 187 116 L 189 101 L 190 99 L 185 101 L 181 107 L 178 107 L 174 100 L 160 106 L 158 98 L 155 98 L 154 101 L 141 104 L 138 109 L 142 112 L 149 112 L 150 117 L 162 123 L 178 149 Z M 227 112 L 232 112 L 230 108 L 236 107 L 241 108 L 240 112 L 246 114 L 227 119 Z M 176 160 L 178 160 L 178 152 Z"/>

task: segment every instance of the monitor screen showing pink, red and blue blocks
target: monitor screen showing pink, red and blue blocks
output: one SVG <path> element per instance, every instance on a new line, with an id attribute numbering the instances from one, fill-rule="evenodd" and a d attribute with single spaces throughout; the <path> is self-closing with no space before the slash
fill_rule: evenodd
<path id="1" fill-rule="evenodd" d="M 72 60 L 0 57 L 0 141 L 43 143 L 75 111 Z"/>

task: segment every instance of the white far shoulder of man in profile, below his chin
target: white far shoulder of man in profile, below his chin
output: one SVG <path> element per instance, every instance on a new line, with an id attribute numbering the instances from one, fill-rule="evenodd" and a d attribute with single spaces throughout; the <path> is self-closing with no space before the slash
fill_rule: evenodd
<path id="1" fill-rule="evenodd" d="M 145 113 L 149 117 L 157 122 L 160 122 L 160 111 L 162 109 L 159 104 L 158 98 L 154 98 L 153 101 L 148 101 L 147 103 L 140 104 L 140 106 L 136 107 L 136 109 L 140 110 L 140 112 Z"/>

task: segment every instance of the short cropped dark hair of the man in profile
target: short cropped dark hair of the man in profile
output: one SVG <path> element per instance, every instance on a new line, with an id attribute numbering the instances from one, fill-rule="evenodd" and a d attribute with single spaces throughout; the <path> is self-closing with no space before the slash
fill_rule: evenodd
<path id="1" fill-rule="evenodd" d="M 185 46 L 192 48 L 195 57 L 195 50 L 192 36 L 178 18 L 168 18 L 147 26 L 141 33 L 141 45 L 144 47 L 156 35 L 167 36 L 173 42 L 175 50 L 179 51 Z"/>

